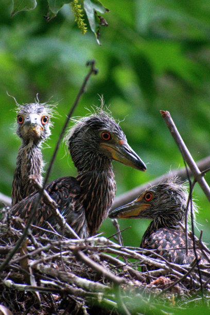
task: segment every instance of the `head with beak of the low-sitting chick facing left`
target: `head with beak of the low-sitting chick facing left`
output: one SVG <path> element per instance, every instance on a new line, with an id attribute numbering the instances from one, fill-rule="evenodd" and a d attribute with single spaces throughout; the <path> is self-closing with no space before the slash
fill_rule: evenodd
<path id="1" fill-rule="evenodd" d="M 111 211 L 109 217 L 156 220 L 171 218 L 176 225 L 184 217 L 187 199 L 186 187 L 171 180 L 147 189 L 134 201 Z"/>

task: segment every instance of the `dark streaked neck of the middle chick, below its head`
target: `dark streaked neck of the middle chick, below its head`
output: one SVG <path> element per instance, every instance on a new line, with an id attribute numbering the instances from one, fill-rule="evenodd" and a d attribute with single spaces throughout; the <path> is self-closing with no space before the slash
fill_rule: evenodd
<path id="1" fill-rule="evenodd" d="M 115 197 L 116 184 L 110 159 L 92 155 L 89 167 L 79 171 L 77 180 L 81 187 L 79 201 L 85 208 L 89 235 L 95 235 L 107 218 Z M 100 158 L 100 161 L 99 161 Z M 84 164 L 87 163 L 84 161 Z"/>

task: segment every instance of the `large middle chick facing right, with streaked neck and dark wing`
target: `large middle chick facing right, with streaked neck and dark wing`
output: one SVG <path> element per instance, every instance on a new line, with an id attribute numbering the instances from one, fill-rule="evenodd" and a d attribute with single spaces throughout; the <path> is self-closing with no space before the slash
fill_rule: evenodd
<path id="1" fill-rule="evenodd" d="M 79 119 L 67 132 L 65 142 L 78 174 L 63 177 L 46 186 L 60 213 L 79 237 L 93 236 L 107 218 L 115 197 L 112 160 L 145 171 L 146 165 L 129 146 L 121 127 L 102 108 Z M 24 219 L 36 202 L 37 193 L 17 203 L 11 210 Z M 42 201 L 34 224 L 58 228 L 49 207 Z"/>

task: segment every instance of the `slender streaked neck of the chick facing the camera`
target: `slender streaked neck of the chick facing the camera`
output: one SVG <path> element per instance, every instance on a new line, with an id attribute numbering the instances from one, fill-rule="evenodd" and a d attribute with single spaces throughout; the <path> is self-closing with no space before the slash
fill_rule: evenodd
<path id="1" fill-rule="evenodd" d="M 42 183 L 42 152 L 40 146 L 29 142 L 22 144 L 17 154 L 16 169 L 12 183 L 12 205 L 21 201 L 36 189 L 30 182 L 29 176 L 35 177 Z"/>

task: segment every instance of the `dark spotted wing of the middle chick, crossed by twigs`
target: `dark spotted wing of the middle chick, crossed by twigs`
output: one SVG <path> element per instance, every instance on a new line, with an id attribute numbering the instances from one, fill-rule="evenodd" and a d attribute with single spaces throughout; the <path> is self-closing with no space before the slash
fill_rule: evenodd
<path id="1" fill-rule="evenodd" d="M 74 177 L 63 177 L 50 182 L 46 186 L 47 193 L 58 204 L 60 213 L 65 217 L 67 223 L 72 226 L 76 233 L 78 233 L 78 220 L 83 222 L 85 227 L 84 208 L 77 202 L 77 196 L 80 194 L 80 186 Z M 12 207 L 12 214 L 20 216 L 25 221 L 30 216 L 33 206 L 36 204 L 38 193 L 33 193 L 27 198 Z M 48 228 L 49 222 L 54 227 L 57 226 L 54 216 L 51 214 L 50 207 L 41 202 L 40 207 L 34 214 L 33 224 Z"/>

